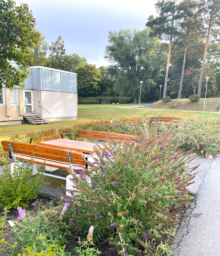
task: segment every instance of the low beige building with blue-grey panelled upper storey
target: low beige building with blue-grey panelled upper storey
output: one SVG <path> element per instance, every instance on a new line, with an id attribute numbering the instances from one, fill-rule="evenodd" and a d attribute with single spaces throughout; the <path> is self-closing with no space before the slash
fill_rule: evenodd
<path id="1" fill-rule="evenodd" d="M 30 71 L 24 89 L 0 89 L 0 125 L 21 124 L 25 114 L 48 121 L 77 119 L 77 74 L 42 66 Z"/>

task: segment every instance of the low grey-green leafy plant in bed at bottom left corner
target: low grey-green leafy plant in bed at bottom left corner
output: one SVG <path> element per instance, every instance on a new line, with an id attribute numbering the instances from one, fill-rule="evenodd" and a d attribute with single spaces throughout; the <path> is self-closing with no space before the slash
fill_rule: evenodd
<path id="1" fill-rule="evenodd" d="M 31 252 L 38 255 L 37 252 L 48 253 L 51 245 L 54 248 L 60 248 L 68 243 L 65 235 L 71 235 L 71 232 L 64 228 L 67 225 L 59 217 L 61 207 L 54 207 L 52 202 L 43 206 L 40 200 L 36 200 L 33 203 L 33 207 L 34 211 L 30 213 L 18 208 L 19 217 L 15 222 L 12 234 L 17 236 L 16 247 L 20 248 L 20 252 L 25 255 L 28 248 L 31 248 L 28 253 Z M 58 250 L 58 252 L 59 254 L 55 255 L 67 255 L 63 249 L 61 251 Z M 45 255 L 49 256 L 50 254 Z"/>

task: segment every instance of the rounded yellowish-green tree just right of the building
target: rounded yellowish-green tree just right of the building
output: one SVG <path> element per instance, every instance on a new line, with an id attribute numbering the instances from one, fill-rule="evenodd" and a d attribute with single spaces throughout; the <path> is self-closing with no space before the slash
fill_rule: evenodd
<path id="1" fill-rule="evenodd" d="M 100 93 L 98 82 L 101 73 L 95 65 L 86 64 L 75 68 L 77 73 L 77 92 L 80 97 L 93 97 Z"/>

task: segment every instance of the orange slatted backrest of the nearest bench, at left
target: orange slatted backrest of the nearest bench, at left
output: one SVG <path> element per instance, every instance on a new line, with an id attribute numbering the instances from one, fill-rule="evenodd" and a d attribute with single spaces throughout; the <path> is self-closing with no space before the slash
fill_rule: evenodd
<path id="1" fill-rule="evenodd" d="M 69 152 L 73 164 L 80 163 L 81 165 L 86 165 L 86 162 L 83 160 L 84 155 L 82 153 L 23 142 L 2 140 L 1 143 L 3 149 L 8 152 L 11 152 L 8 145 L 8 143 L 11 143 L 15 154 L 33 156 L 42 159 L 51 159 L 60 162 L 68 162 L 66 153 Z"/>

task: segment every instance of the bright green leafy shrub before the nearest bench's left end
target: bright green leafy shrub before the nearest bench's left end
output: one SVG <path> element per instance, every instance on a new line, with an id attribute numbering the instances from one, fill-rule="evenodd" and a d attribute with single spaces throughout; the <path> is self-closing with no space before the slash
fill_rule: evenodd
<path id="1" fill-rule="evenodd" d="M 3 169 L 3 174 L 0 175 L 0 208 L 26 207 L 29 200 L 37 196 L 39 189 L 43 187 L 44 176 L 40 174 L 40 170 L 34 176 L 32 172 L 32 163 L 26 169 L 18 161 L 15 161 L 13 173 L 10 167 Z"/>

